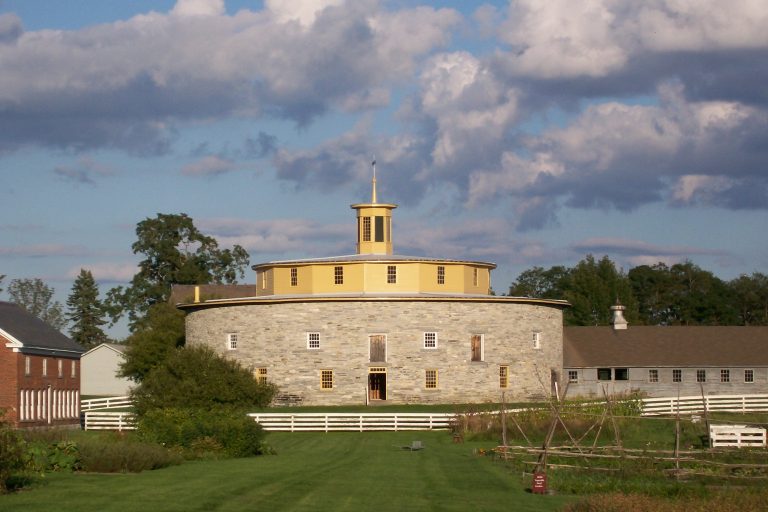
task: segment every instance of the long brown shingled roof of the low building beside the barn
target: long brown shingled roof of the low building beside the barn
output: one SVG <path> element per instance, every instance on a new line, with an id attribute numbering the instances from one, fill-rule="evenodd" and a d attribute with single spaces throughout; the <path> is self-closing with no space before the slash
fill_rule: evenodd
<path id="1" fill-rule="evenodd" d="M 768 366 L 768 327 L 565 327 L 563 366 Z"/>

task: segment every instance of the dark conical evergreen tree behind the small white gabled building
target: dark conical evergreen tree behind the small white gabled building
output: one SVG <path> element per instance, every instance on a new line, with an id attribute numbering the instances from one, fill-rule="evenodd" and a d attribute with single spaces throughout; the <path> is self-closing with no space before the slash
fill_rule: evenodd
<path id="1" fill-rule="evenodd" d="M 67 320 L 72 322 L 69 334 L 73 340 L 86 349 L 91 349 L 108 340 L 101 329 L 104 320 L 104 305 L 99 300 L 99 288 L 90 270 L 80 269 L 67 298 Z"/>

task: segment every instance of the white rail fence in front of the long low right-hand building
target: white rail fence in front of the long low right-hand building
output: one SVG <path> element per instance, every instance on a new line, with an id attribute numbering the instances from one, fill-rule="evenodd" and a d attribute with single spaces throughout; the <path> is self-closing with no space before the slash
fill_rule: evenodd
<path id="1" fill-rule="evenodd" d="M 693 414 L 707 411 L 765 412 L 768 394 L 681 396 L 680 398 L 645 398 L 643 416 L 662 414 Z"/>

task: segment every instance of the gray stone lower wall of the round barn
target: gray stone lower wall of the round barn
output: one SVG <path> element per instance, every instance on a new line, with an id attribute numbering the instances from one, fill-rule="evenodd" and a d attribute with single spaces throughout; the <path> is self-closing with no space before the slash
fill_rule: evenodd
<path id="1" fill-rule="evenodd" d="M 369 299 L 354 302 L 226 303 L 190 311 L 187 344 L 207 344 L 243 365 L 266 368 L 280 393 L 304 405 L 366 403 L 369 367 L 385 367 L 387 403 L 498 402 L 540 398 L 550 372 L 562 378 L 560 307 L 499 300 L 420 301 Z M 311 349 L 307 333 L 320 333 Z M 437 348 L 424 348 L 425 332 L 437 333 Z M 533 333 L 541 333 L 541 348 Z M 227 335 L 237 334 L 229 349 Z M 369 361 L 369 335 L 386 335 L 386 362 Z M 483 361 L 471 361 L 470 339 L 483 335 Z M 509 366 L 509 386 L 499 385 L 499 366 Z M 436 389 L 425 371 L 437 370 Z M 332 370 L 333 389 L 320 388 L 322 370 Z"/>

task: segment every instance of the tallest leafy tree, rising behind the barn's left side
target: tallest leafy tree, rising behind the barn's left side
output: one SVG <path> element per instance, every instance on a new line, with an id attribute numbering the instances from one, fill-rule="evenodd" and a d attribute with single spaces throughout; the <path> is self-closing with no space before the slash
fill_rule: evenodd
<path id="1" fill-rule="evenodd" d="M 202 234 L 185 213 L 158 213 L 136 226 L 134 254 L 143 254 L 139 271 L 128 288 L 117 287 L 107 296 L 116 321 L 129 312 L 131 329 L 149 309 L 170 297 L 173 284 L 237 283 L 244 277 L 248 253 L 239 245 L 219 249 L 213 237 Z"/>

